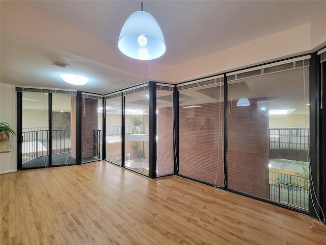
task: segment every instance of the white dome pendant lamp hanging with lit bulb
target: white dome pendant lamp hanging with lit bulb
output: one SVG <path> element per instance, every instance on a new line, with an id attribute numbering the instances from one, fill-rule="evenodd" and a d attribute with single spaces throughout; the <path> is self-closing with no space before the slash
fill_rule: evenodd
<path id="1" fill-rule="evenodd" d="M 154 17 L 142 10 L 134 12 L 124 23 L 119 36 L 119 50 L 138 60 L 153 60 L 166 51 L 165 40 Z"/>

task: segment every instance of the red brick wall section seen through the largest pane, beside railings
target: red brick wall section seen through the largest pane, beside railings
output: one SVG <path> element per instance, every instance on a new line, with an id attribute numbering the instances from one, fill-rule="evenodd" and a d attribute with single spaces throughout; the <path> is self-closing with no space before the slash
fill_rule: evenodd
<path id="1" fill-rule="evenodd" d="M 228 186 L 257 197 L 268 198 L 268 110 L 238 107 L 232 102 L 228 114 Z"/>

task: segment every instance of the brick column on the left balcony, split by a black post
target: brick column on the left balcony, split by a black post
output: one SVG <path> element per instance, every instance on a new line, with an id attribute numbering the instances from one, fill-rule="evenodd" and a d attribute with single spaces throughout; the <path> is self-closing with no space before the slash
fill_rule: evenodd
<path id="1" fill-rule="evenodd" d="M 93 157 L 93 130 L 97 130 L 97 103 L 97 99 L 89 98 L 85 98 L 85 103 L 84 99 L 82 102 L 82 159 Z M 72 108 L 74 104 L 71 102 Z M 71 157 L 76 157 L 75 113 L 71 113 Z"/>

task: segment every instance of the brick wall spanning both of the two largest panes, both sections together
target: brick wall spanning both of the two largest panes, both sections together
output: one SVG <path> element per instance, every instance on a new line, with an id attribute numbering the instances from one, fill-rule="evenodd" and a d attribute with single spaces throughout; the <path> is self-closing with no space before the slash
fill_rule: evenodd
<path id="1" fill-rule="evenodd" d="M 214 183 L 219 152 L 216 184 L 224 184 L 223 104 L 221 117 L 219 103 L 179 108 L 180 174 Z M 268 198 L 268 110 L 257 110 L 254 99 L 248 107 L 237 107 L 233 102 L 229 111 L 228 186 Z"/>

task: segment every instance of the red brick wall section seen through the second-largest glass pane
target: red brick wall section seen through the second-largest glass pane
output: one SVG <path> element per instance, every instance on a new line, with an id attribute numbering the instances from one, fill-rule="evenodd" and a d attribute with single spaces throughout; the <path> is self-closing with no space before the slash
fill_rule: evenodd
<path id="1" fill-rule="evenodd" d="M 202 104 L 198 108 L 179 107 L 179 170 L 180 174 L 223 185 L 223 103 Z M 219 128 L 221 130 L 219 130 Z M 220 135 L 219 135 L 220 133 Z M 218 146 L 220 146 L 220 151 Z"/>

